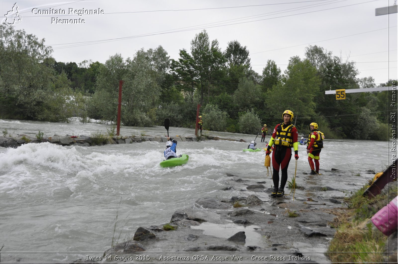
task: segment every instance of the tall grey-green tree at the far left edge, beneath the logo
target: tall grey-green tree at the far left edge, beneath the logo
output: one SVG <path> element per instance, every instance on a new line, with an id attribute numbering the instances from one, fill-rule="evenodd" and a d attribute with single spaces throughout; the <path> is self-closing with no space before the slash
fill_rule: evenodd
<path id="1" fill-rule="evenodd" d="M 0 25 L 0 103 L 10 117 L 35 119 L 43 110 L 55 74 L 52 51 L 44 39 Z"/>

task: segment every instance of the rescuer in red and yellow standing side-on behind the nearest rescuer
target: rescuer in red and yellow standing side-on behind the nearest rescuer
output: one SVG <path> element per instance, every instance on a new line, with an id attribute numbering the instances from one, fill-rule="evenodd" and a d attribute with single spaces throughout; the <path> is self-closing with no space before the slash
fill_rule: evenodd
<path id="1" fill-rule="evenodd" d="M 308 163 L 310 163 L 310 174 L 319 174 L 319 154 L 323 148 L 323 133 L 318 130 L 318 124 L 310 124 L 311 133 L 307 140 Z M 314 159 L 314 162 L 312 161 Z"/>

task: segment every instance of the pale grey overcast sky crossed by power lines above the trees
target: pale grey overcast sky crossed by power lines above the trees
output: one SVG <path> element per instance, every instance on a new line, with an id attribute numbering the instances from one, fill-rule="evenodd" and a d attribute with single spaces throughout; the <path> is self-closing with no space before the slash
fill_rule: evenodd
<path id="1" fill-rule="evenodd" d="M 397 14 L 375 16 L 376 8 L 394 0 L 0 1 L 3 17 L 17 3 L 22 21 L 12 26 L 44 38 L 61 62 L 103 63 L 116 53 L 133 57 L 159 45 L 178 59 L 179 50 L 190 52 L 195 34 L 206 29 L 222 50 L 233 40 L 246 46 L 259 74 L 269 59 L 283 72 L 290 57 L 304 58 L 305 47 L 318 45 L 343 60 L 349 56 L 358 78 L 372 76 L 376 84 L 397 79 Z M 103 14 L 78 16 L 71 10 Z"/>

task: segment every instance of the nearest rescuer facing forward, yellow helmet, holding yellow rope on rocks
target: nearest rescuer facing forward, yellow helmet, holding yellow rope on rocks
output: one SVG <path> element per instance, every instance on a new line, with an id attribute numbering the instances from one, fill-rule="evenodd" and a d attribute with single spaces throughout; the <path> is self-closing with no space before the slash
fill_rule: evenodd
<path id="1" fill-rule="evenodd" d="M 286 110 L 282 114 L 283 122 L 277 124 L 273 130 L 271 140 L 269 140 L 267 151 L 265 155 L 271 153 L 270 149 L 274 146 L 272 152 L 272 180 L 274 189 L 271 196 L 283 196 L 285 194 L 284 188 L 287 182 L 287 167 L 292 157 L 292 147 L 295 150 L 295 159 L 298 159 L 298 143 L 297 143 L 297 128 L 291 124 L 293 120 L 293 112 Z M 279 185 L 279 167 L 281 167 L 281 185 Z"/>

